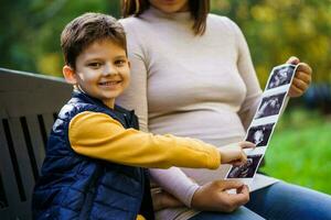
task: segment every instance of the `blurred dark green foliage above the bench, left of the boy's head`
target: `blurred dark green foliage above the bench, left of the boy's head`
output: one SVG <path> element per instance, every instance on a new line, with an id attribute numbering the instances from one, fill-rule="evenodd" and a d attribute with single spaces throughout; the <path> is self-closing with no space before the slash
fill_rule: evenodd
<path id="1" fill-rule="evenodd" d="M 62 76 L 60 35 L 84 12 L 120 16 L 118 0 L 1 0 L 0 67 Z"/>

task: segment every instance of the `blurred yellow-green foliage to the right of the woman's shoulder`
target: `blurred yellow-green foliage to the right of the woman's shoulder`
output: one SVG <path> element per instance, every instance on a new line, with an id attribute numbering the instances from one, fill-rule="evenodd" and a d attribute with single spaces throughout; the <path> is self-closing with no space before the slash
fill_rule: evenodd
<path id="1" fill-rule="evenodd" d="M 291 55 L 331 82 L 331 0 L 212 0 L 212 11 L 242 28 L 261 85 Z"/>

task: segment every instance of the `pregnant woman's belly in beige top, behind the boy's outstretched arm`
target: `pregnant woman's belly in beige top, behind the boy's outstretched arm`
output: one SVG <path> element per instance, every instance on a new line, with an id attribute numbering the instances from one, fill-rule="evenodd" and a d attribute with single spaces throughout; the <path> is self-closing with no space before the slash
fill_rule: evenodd
<path id="1" fill-rule="evenodd" d="M 245 136 L 237 113 L 220 109 L 193 110 L 149 119 L 149 131 L 154 134 L 171 133 L 200 139 L 217 147 L 243 141 Z M 214 170 L 202 168 L 182 168 L 182 170 L 199 184 L 205 184 L 223 179 L 228 168 L 229 165 L 222 165 Z"/>

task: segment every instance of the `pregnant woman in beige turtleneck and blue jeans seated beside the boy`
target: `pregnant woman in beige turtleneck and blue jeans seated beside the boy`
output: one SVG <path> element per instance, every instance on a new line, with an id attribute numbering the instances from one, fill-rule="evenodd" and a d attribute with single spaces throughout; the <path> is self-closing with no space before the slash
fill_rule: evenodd
<path id="1" fill-rule="evenodd" d="M 126 0 L 122 6 L 131 84 L 119 102 L 136 109 L 141 129 L 216 146 L 244 140 L 261 89 L 239 28 L 209 13 L 209 0 Z M 289 96 L 301 96 L 310 81 L 311 68 L 301 63 Z M 157 218 L 331 219 L 328 195 L 264 175 L 256 175 L 249 195 L 242 183 L 222 180 L 227 168 L 150 169 L 173 196 L 154 195 Z"/>

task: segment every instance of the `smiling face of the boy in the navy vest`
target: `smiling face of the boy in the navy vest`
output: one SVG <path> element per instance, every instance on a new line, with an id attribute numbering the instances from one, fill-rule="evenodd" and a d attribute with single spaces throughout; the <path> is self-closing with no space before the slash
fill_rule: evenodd
<path id="1" fill-rule="evenodd" d="M 74 82 L 78 88 L 111 108 L 115 98 L 130 80 L 126 51 L 111 40 L 100 40 L 88 45 L 77 56 L 73 72 Z"/>

